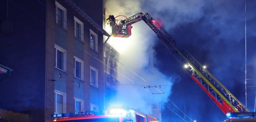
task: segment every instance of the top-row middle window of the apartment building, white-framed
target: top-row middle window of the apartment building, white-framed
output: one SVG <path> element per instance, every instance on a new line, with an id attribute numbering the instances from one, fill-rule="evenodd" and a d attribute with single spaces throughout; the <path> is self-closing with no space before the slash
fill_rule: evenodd
<path id="1" fill-rule="evenodd" d="M 84 42 L 84 24 L 74 16 L 75 37 Z"/>

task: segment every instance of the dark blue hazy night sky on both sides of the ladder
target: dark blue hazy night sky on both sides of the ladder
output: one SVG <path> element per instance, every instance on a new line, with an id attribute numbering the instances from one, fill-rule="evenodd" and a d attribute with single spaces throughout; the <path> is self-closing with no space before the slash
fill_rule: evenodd
<path id="1" fill-rule="evenodd" d="M 192 15 L 187 15 L 189 14 L 187 12 L 181 16 L 181 13 L 169 8 L 158 9 L 157 11 L 150 10 L 148 6 L 155 6 L 154 2 L 145 2 L 142 8 L 149 11 L 148 13 L 154 19 L 159 20 L 163 28 L 167 28 L 168 33 L 178 44 L 190 52 L 199 62 L 206 65 L 207 69 L 245 105 L 245 2 L 243 0 L 211 0 L 201 1 L 202 3 L 200 0 L 196 1 L 196 5 L 192 1 L 181 0 L 180 2 L 181 4 L 191 4 L 200 11 L 200 13 L 198 11 L 191 12 Z M 176 1 L 175 3 L 179 2 Z M 177 8 L 179 9 L 179 6 Z M 191 11 L 193 10 L 191 9 Z M 247 0 L 247 78 L 256 78 L 255 10 L 256 1 Z M 195 14 L 194 18 L 193 14 Z M 179 108 L 186 111 L 190 118 L 198 122 L 223 121 L 226 118 L 225 114 L 189 77 L 157 37 L 155 37 L 155 41 L 157 42 L 155 50 L 158 60 L 156 67 L 167 76 L 173 74 L 181 76 L 181 80 L 172 87 L 172 94 L 169 98 Z M 247 86 L 255 85 L 256 79 L 247 80 Z M 254 110 L 255 92 L 256 87 L 247 87 L 247 108 L 250 111 Z M 181 114 L 171 103 L 167 103 L 167 105 Z M 187 118 L 187 120 L 189 119 Z M 170 110 L 164 109 L 162 121 L 183 120 Z"/>

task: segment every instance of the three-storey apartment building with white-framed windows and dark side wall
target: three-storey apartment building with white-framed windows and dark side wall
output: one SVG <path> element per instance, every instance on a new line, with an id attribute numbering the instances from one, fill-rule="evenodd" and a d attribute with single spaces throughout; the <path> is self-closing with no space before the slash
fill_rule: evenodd
<path id="1" fill-rule="evenodd" d="M 103 1 L 7 0 L 0 6 L 7 28 L 1 29 L 0 61 L 13 69 L 0 82 L 0 108 L 47 122 L 53 113 L 103 110 Z"/>

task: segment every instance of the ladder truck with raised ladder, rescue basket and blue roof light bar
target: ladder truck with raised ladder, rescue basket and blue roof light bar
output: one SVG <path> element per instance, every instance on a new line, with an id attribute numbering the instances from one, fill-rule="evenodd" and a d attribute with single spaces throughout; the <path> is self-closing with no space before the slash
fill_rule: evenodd
<path id="1" fill-rule="evenodd" d="M 119 15 L 123 16 L 123 15 Z M 119 17 L 117 16 L 117 17 Z M 226 114 L 226 121 L 256 122 L 256 113 L 250 112 L 224 85 L 215 78 L 199 61 L 197 61 L 186 49 L 181 47 L 172 36 L 148 13 L 138 13 L 124 20 L 117 20 L 110 15 L 106 20 L 110 26 L 112 37 L 128 38 L 131 36 L 132 24 L 144 21 L 152 29 L 168 51 L 177 59 L 189 76 L 203 89 L 213 102 Z"/>

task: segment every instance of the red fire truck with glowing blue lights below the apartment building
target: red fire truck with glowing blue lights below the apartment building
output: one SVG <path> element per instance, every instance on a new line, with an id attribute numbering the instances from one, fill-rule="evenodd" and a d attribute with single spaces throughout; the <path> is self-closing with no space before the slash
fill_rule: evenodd
<path id="1" fill-rule="evenodd" d="M 52 122 L 160 122 L 145 113 L 129 107 L 111 107 L 107 111 L 94 113 L 93 111 L 83 111 L 74 113 L 52 114 Z"/>

